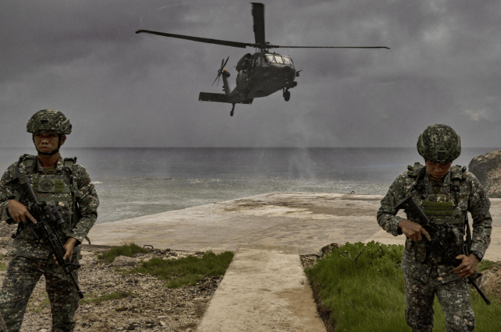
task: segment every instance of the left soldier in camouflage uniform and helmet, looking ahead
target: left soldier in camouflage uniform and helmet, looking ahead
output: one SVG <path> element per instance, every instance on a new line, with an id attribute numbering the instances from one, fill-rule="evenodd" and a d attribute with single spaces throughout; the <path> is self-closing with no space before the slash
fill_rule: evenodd
<path id="1" fill-rule="evenodd" d="M 75 286 L 57 265 L 50 245 L 35 240 L 29 229 L 28 224 L 36 222 L 30 214 L 30 203 L 7 183 L 26 173 L 38 200 L 60 207 L 65 223 L 56 229 L 66 250 L 64 257 L 72 263 L 78 263 L 79 244 L 96 222 L 99 200 L 85 168 L 76 164 L 76 158 L 62 159 L 59 154 L 65 135 L 72 130 L 65 115 L 57 110 L 40 110 L 26 127 L 33 134 L 38 155 L 21 156 L 0 181 L 1 221 L 18 223 L 14 256 L 0 292 L 0 310 L 9 332 L 19 331 L 28 299 L 43 274 L 53 316 L 52 331 L 73 331 L 79 304 Z M 77 271 L 74 275 L 77 277 Z"/>

